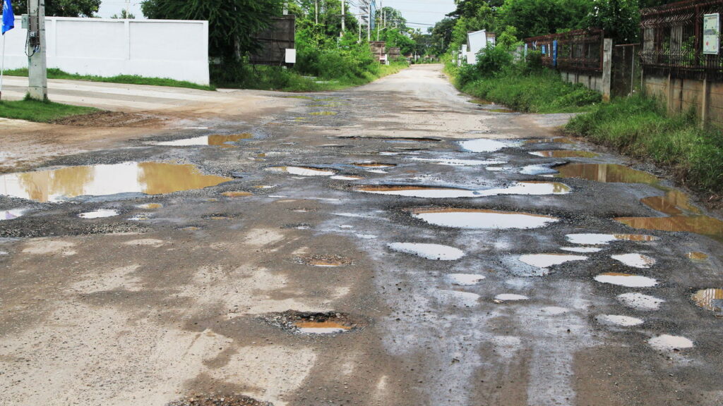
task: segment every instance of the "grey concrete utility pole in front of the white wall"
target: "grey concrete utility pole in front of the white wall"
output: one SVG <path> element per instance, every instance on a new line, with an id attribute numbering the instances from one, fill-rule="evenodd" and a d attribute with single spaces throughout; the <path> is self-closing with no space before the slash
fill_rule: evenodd
<path id="1" fill-rule="evenodd" d="M 27 94 L 31 99 L 48 99 L 48 69 L 45 42 L 45 0 L 28 0 Z"/>

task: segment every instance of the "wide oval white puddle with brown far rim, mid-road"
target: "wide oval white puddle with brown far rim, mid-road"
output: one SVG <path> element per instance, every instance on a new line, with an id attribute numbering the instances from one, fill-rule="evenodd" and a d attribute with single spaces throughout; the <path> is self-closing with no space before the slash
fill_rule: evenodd
<path id="1" fill-rule="evenodd" d="M 555 223 L 557 218 L 518 212 L 498 212 L 478 209 L 415 209 L 414 217 L 432 225 L 476 230 L 506 230 L 541 228 Z"/>

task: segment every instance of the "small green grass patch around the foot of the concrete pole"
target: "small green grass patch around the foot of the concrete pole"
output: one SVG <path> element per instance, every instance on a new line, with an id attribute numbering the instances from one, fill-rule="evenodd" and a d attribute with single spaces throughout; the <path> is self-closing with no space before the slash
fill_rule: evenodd
<path id="1" fill-rule="evenodd" d="M 92 107 L 80 107 L 51 101 L 43 102 L 27 98 L 25 100 L 3 101 L 0 103 L 0 117 L 40 123 L 48 123 L 60 118 L 95 113 L 97 111 L 99 111 L 97 108 Z"/>

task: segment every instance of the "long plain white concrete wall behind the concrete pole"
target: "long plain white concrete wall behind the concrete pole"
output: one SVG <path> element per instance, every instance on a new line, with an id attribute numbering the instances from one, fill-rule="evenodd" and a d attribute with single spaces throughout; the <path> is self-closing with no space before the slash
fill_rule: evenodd
<path id="1" fill-rule="evenodd" d="M 26 30 L 6 33 L 5 67 L 27 67 Z M 208 22 L 46 17 L 49 68 L 69 73 L 132 74 L 209 84 Z"/>

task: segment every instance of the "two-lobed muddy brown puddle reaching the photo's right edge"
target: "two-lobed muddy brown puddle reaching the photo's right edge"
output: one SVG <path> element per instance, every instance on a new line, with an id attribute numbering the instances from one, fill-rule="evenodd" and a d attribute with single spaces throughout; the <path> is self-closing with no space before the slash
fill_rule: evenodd
<path id="1" fill-rule="evenodd" d="M 615 220 L 641 230 L 680 231 L 723 240 L 723 221 L 701 214 L 683 191 L 668 190 L 664 196 L 646 197 L 641 203 L 669 217 L 617 217 Z"/>

